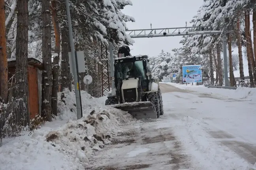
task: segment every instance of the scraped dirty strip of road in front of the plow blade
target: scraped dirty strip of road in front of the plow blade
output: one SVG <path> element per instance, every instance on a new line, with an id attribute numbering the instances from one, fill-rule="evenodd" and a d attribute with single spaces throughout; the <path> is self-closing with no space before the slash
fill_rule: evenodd
<path id="1" fill-rule="evenodd" d="M 166 118 L 160 119 L 168 123 Z M 171 127 L 158 128 L 160 121 L 137 122 L 139 128 L 125 127 L 129 130 L 114 137 L 112 144 L 90 160 L 94 163 L 87 170 L 188 169 L 189 156 L 183 153 L 181 142 Z"/>

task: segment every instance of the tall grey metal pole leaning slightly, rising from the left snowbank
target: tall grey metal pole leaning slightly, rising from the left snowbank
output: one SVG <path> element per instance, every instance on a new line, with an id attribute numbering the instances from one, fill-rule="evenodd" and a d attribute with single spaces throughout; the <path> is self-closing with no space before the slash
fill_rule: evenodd
<path id="1" fill-rule="evenodd" d="M 66 0 L 66 8 L 67 8 L 67 17 L 68 17 L 68 30 L 69 30 L 69 37 L 70 37 L 70 47 L 71 47 L 71 56 L 72 56 L 72 65 L 73 65 L 73 77 L 75 83 L 75 101 L 76 101 L 76 108 L 77 108 L 77 119 L 82 117 L 82 108 L 81 108 L 81 98 L 79 96 L 79 82 L 77 79 L 77 69 L 76 69 L 76 61 L 75 61 L 75 46 L 73 41 L 73 34 L 72 34 L 72 24 L 71 24 L 71 17 L 70 17 L 70 8 L 69 2 Z"/>

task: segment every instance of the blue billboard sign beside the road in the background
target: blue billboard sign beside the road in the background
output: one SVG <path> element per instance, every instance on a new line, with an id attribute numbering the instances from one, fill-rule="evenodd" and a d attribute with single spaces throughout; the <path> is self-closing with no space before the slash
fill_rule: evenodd
<path id="1" fill-rule="evenodd" d="M 202 82 L 201 65 L 184 65 L 182 66 L 183 83 Z"/>

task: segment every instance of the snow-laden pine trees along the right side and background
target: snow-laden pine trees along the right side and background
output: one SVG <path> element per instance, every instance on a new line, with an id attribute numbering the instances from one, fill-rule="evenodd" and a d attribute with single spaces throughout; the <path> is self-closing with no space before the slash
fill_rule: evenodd
<path id="1" fill-rule="evenodd" d="M 250 21 L 252 20 L 252 26 Z M 181 76 L 182 65 L 201 64 L 203 72 L 211 79 L 211 84 L 224 84 L 222 37 L 227 35 L 228 66 L 230 85 L 236 86 L 233 74 L 234 68 L 239 69 L 240 84 L 248 87 L 256 85 L 256 1 L 255 0 L 204 0 L 197 14 L 190 21 L 192 26 L 206 26 L 194 28 L 190 31 L 221 30 L 221 35 L 190 35 L 183 36 L 181 48 L 173 49 L 174 55 L 168 55 L 161 68 L 168 67 L 168 74 L 176 73 Z M 234 33 L 227 34 L 233 30 Z M 252 40 L 253 39 L 253 40 Z M 254 42 L 254 43 L 252 43 Z M 232 54 L 233 48 L 238 48 L 238 54 Z M 245 48 L 243 53 L 243 48 Z M 243 61 L 243 55 L 247 61 Z M 159 56 L 151 57 L 154 60 L 163 60 L 163 52 Z M 238 58 L 237 58 L 238 57 Z M 235 62 L 234 62 L 235 61 Z M 244 63 L 248 63 L 249 81 L 245 83 Z M 154 68 L 155 66 L 153 66 Z M 162 65 L 162 66 L 161 66 Z M 163 66 L 165 65 L 165 66 Z M 158 72 L 158 71 L 156 71 Z M 216 76 L 214 76 L 216 72 Z"/>

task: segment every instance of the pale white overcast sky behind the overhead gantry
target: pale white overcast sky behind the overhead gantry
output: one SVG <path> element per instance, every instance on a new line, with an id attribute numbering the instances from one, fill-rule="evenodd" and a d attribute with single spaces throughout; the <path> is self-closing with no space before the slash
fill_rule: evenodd
<path id="1" fill-rule="evenodd" d="M 127 22 L 129 30 L 152 28 L 173 28 L 187 26 L 194 15 L 197 14 L 203 0 L 132 0 L 132 6 L 126 6 L 122 12 L 134 17 L 136 22 Z M 134 39 L 130 46 L 132 55 L 158 55 L 161 50 L 170 52 L 173 48 L 181 47 L 179 41 L 182 36 L 157 37 Z"/>

